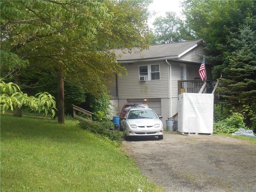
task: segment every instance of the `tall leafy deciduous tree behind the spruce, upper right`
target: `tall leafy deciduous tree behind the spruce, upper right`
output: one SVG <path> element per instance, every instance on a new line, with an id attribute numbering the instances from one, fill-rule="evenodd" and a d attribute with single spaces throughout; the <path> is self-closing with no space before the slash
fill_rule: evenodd
<path id="1" fill-rule="evenodd" d="M 190 30 L 207 44 L 207 60 L 218 65 L 213 76 L 219 78 L 228 63 L 226 52 L 234 50 L 228 41 L 238 37 L 241 25 L 256 29 L 256 1 L 186 0 L 182 7 Z"/>

